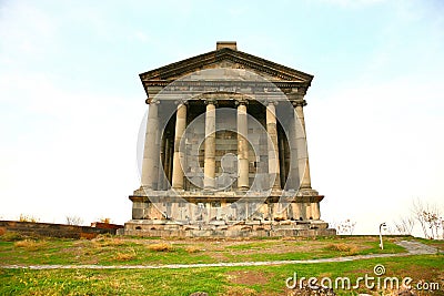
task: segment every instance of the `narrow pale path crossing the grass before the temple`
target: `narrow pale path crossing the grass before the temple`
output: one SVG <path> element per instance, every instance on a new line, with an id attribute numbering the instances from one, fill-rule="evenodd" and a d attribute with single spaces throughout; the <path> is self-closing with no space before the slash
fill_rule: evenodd
<path id="1" fill-rule="evenodd" d="M 396 243 L 404 247 L 407 253 L 397 254 L 369 254 L 345 256 L 335 258 L 306 259 L 306 261 L 268 261 L 268 262 L 234 262 L 234 263 L 208 263 L 208 264 L 165 264 L 165 265 L 0 265 L 0 268 L 6 269 L 181 269 L 181 268 L 201 268 L 201 267 L 235 267 L 235 266 L 271 266 L 284 264 L 315 264 L 327 262 L 350 262 L 370 258 L 384 257 L 402 257 L 412 255 L 436 254 L 438 251 L 435 247 L 424 245 L 418 242 L 401 241 Z"/>

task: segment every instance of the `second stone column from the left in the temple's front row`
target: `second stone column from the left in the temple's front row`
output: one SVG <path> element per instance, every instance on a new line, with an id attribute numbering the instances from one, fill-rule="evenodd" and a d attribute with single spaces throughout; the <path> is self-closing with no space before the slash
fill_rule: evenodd
<path id="1" fill-rule="evenodd" d="M 179 102 L 175 113 L 175 134 L 174 134 L 174 153 L 173 153 L 173 174 L 172 188 L 183 190 L 183 167 L 184 151 L 181 149 L 181 141 L 186 129 L 186 104 Z"/>

